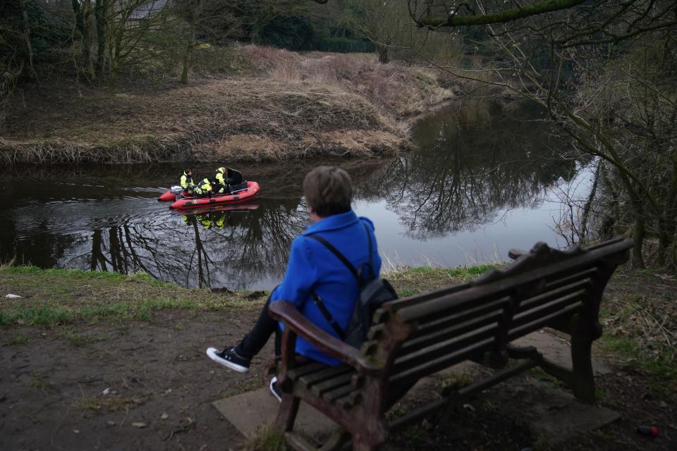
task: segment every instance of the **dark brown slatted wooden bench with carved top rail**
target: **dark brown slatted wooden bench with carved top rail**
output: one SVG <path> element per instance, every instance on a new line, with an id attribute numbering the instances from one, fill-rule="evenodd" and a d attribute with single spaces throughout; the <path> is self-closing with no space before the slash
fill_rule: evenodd
<path id="1" fill-rule="evenodd" d="M 274 302 L 271 316 L 286 328 L 276 366 L 282 402 L 274 427 L 298 450 L 315 449 L 293 431 L 300 400 L 336 421 L 322 449 L 341 445 L 346 434 L 354 450 L 373 450 L 397 430 L 437 409 L 540 366 L 568 385 L 576 397 L 594 402 L 590 350 L 602 335 L 599 303 L 616 266 L 628 259 L 629 240 L 611 240 L 567 251 L 538 243 L 530 252 L 511 251 L 513 264 L 440 290 L 397 299 L 374 315 L 361 350 L 307 321 L 290 302 Z M 573 368 L 549 362 L 534 347 L 511 341 L 544 327 L 571 335 Z M 297 335 L 343 364 L 326 366 L 295 356 Z M 508 364 L 511 359 L 518 360 Z M 499 369 L 493 376 L 456 390 L 394 421 L 386 412 L 416 381 L 465 360 Z"/>

